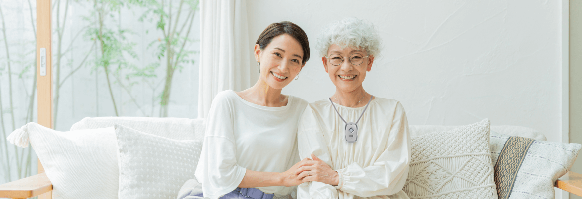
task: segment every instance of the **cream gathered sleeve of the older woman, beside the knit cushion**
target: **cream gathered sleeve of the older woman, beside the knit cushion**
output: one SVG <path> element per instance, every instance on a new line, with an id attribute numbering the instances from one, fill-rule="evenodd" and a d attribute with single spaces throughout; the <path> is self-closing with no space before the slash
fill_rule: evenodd
<path id="1" fill-rule="evenodd" d="M 360 197 L 392 195 L 401 191 L 408 176 L 411 140 L 406 113 L 398 103 L 386 149 L 368 167 L 354 162 L 338 169 L 339 189 Z"/>

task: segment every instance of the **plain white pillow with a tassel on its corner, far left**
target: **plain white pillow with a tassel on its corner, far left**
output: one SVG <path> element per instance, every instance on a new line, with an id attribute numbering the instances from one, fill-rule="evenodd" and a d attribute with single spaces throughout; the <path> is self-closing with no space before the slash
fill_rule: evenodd
<path id="1" fill-rule="evenodd" d="M 59 132 L 30 122 L 8 137 L 32 144 L 52 183 L 52 198 L 118 198 L 117 143 L 113 127 Z"/>

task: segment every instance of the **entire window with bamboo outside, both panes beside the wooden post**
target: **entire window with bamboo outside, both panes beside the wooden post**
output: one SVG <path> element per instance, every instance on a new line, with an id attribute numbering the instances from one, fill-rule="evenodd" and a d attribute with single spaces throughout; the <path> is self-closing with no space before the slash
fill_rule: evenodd
<path id="1" fill-rule="evenodd" d="M 53 128 L 84 117 L 197 118 L 198 0 L 52 0 Z M 36 1 L 0 1 L 0 184 L 35 175 L 6 140 L 37 121 Z"/>

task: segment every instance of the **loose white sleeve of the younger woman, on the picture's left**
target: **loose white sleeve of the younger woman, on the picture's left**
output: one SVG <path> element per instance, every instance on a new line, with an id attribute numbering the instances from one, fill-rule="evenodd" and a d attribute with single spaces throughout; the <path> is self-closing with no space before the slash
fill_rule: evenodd
<path id="1" fill-rule="evenodd" d="M 234 108 L 225 95 L 219 93 L 212 102 L 196 169 L 196 178 L 203 183 L 205 198 L 219 198 L 235 190 L 246 173 L 246 168 L 237 164 Z"/>

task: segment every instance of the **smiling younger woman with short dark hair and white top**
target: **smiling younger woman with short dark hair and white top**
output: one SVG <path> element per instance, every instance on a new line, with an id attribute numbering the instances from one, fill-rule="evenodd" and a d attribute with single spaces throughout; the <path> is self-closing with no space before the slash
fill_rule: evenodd
<path id="1" fill-rule="evenodd" d="M 254 46 L 258 81 L 241 92 L 218 93 L 208 114 L 196 179 L 178 198 L 273 198 L 301 183 L 297 123 L 306 100 L 281 90 L 309 60 L 307 35 L 289 21 L 267 27 Z"/>

